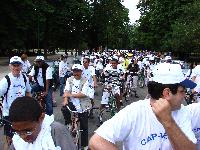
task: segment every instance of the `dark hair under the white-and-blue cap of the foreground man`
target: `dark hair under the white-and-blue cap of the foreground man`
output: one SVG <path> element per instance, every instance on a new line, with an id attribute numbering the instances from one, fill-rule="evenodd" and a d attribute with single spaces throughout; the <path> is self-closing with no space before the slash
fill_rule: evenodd
<path id="1" fill-rule="evenodd" d="M 163 90 L 165 88 L 169 88 L 173 95 L 177 93 L 178 87 L 180 87 L 181 84 L 161 84 L 157 83 L 155 81 L 150 81 L 148 83 L 148 93 L 150 94 L 151 98 L 153 99 L 159 99 L 162 97 Z"/>

